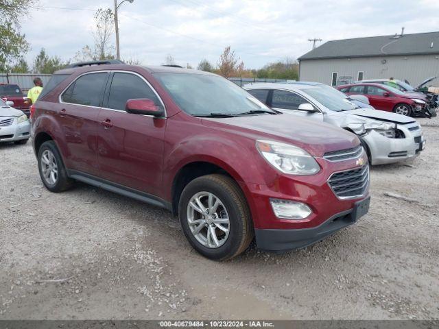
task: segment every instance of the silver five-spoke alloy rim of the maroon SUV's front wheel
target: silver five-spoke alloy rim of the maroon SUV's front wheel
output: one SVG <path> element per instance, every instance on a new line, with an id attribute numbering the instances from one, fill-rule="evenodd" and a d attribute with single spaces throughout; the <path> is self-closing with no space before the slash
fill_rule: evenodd
<path id="1" fill-rule="evenodd" d="M 224 245 L 230 232 L 226 207 L 210 192 L 198 192 L 191 197 L 187 205 L 187 223 L 195 239 L 208 248 Z"/>

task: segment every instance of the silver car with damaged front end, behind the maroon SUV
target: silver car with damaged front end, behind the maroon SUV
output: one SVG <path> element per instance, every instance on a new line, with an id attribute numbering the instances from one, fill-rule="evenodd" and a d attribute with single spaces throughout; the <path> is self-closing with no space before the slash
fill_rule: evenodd
<path id="1" fill-rule="evenodd" d="M 324 121 L 357 134 L 370 164 L 414 158 L 425 148 L 420 125 L 413 118 L 362 108 L 326 84 L 261 83 L 248 84 L 244 89 L 276 110 Z"/>

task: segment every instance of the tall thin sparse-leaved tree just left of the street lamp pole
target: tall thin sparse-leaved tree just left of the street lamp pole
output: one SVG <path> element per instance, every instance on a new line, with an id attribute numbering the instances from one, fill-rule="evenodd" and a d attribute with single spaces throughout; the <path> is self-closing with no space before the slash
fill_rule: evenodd
<path id="1" fill-rule="evenodd" d="M 96 57 L 98 60 L 105 60 L 109 57 L 114 57 L 112 50 L 114 47 L 110 45 L 110 38 L 115 29 L 115 14 L 110 8 L 99 8 L 95 12 L 95 46 Z"/>

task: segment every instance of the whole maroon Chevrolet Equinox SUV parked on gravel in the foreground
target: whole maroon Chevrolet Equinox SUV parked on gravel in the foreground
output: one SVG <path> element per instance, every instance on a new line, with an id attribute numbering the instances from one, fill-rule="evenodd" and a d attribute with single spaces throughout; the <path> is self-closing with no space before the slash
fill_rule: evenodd
<path id="1" fill-rule="evenodd" d="M 52 192 L 75 180 L 169 209 L 200 254 L 305 247 L 369 208 L 367 156 L 337 127 L 271 110 L 212 73 L 114 62 L 57 71 L 32 137 Z"/>

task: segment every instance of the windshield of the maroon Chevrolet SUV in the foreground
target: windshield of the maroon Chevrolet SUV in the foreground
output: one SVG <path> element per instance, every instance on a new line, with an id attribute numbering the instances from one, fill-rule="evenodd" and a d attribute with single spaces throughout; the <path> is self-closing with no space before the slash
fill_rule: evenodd
<path id="1" fill-rule="evenodd" d="M 276 113 L 246 90 L 218 75 L 155 73 L 154 76 L 177 105 L 194 116 Z"/>

